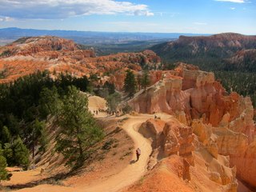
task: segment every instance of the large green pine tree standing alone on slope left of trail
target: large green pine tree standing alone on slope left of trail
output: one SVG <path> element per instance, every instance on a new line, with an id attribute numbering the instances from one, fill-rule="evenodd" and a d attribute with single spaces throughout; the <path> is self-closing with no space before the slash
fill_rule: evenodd
<path id="1" fill-rule="evenodd" d="M 88 110 L 88 98 L 74 86 L 68 87 L 58 114 L 61 131 L 56 138 L 56 150 L 67 159 L 66 165 L 77 168 L 90 157 L 90 148 L 102 138 L 102 130 Z"/>

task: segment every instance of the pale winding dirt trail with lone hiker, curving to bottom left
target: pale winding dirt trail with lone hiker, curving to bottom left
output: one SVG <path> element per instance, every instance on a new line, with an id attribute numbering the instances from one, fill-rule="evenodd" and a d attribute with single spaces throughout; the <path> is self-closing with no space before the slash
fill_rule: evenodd
<path id="1" fill-rule="evenodd" d="M 102 182 L 93 182 L 86 183 L 86 185 L 82 186 L 74 186 L 74 187 L 65 187 L 65 186 L 50 186 L 50 185 L 41 185 L 35 186 L 30 189 L 22 189 L 18 191 L 43 191 L 46 190 L 51 191 L 78 191 L 78 192 L 116 192 L 122 190 L 126 186 L 130 186 L 134 182 L 137 182 L 144 174 L 146 174 L 147 163 L 150 158 L 150 153 L 152 151 L 151 143 L 148 139 L 144 138 L 142 134 L 138 133 L 138 126 L 142 124 L 142 122 L 146 122 L 149 118 L 154 118 L 152 114 L 139 114 L 138 116 L 125 116 L 129 119 L 124 122 L 121 126 L 122 129 L 126 130 L 127 134 L 129 134 L 130 138 L 134 140 L 134 154 L 132 161 L 124 170 L 120 173 L 111 176 L 110 178 L 106 178 L 106 180 Z M 158 114 L 158 117 L 162 119 L 170 118 L 170 115 L 167 114 Z M 122 117 L 124 118 L 124 117 Z M 139 147 L 142 150 L 142 154 L 138 162 L 136 162 L 136 154 L 135 149 Z M 59 188 L 58 188 L 59 187 Z"/>

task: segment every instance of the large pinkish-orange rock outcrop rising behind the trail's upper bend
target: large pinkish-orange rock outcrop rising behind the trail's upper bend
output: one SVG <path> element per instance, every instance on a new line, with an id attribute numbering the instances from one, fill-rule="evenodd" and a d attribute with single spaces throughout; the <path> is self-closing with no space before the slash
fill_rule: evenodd
<path id="1" fill-rule="evenodd" d="M 182 64 L 176 74 L 163 76 L 166 78 L 130 101 L 134 110 L 151 114 L 184 111 L 188 121 L 204 117 L 204 122 L 210 122 L 213 126 L 217 126 L 227 112 L 231 119 L 240 112 L 238 104 L 242 98 L 238 94 L 224 96 L 224 89 L 214 81 L 213 73 L 190 70 Z"/>

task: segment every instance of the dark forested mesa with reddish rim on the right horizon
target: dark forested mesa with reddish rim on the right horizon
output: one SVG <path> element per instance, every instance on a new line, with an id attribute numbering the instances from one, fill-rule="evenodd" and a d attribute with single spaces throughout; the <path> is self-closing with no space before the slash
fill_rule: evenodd
<path id="1" fill-rule="evenodd" d="M 254 49 L 256 35 L 233 33 L 214 34 L 208 37 L 180 36 L 178 40 L 164 42 L 151 48 L 166 62 L 190 62 L 197 64 L 202 70 L 219 70 L 227 61 L 223 59 L 234 57 L 240 50 Z M 256 69 L 256 66 L 254 67 Z"/>

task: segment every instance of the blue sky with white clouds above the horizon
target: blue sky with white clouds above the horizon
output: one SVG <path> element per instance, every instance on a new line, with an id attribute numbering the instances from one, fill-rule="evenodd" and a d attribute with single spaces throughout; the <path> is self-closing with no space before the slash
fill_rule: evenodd
<path id="1" fill-rule="evenodd" d="M 0 0 L 0 28 L 256 34 L 256 0 Z"/>

